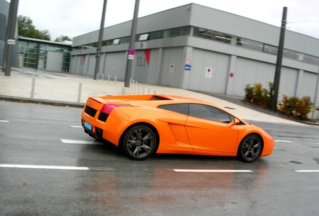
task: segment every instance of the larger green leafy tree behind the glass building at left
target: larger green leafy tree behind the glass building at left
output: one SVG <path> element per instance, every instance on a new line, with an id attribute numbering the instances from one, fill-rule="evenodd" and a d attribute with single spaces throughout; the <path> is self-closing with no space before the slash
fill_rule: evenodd
<path id="1" fill-rule="evenodd" d="M 51 40 L 49 30 L 38 30 L 32 24 L 33 21 L 30 17 L 19 15 L 18 16 L 18 33 L 19 36 L 30 37 L 35 39 Z"/>

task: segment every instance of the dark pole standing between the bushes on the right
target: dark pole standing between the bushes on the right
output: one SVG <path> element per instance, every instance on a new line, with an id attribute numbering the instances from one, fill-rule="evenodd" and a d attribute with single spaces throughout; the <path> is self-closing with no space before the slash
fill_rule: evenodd
<path id="1" fill-rule="evenodd" d="M 285 28 L 286 28 L 286 17 L 287 17 L 287 7 L 283 7 L 278 54 L 277 54 L 277 63 L 276 63 L 276 72 L 275 72 L 275 78 L 273 81 L 273 90 L 271 92 L 271 103 L 270 103 L 270 110 L 271 111 L 277 110 L 277 100 L 278 100 L 279 81 L 280 81 L 280 72 L 281 72 L 283 41 L 284 41 Z"/>

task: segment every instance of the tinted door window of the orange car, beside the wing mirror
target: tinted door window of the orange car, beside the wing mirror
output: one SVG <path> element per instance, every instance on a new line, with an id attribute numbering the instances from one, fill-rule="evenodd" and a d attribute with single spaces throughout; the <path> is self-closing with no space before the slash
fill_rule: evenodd
<path id="1" fill-rule="evenodd" d="M 194 117 L 204 118 L 223 123 L 229 123 L 232 120 L 227 112 L 213 106 L 198 103 L 190 103 L 189 107 L 190 115 Z"/>

